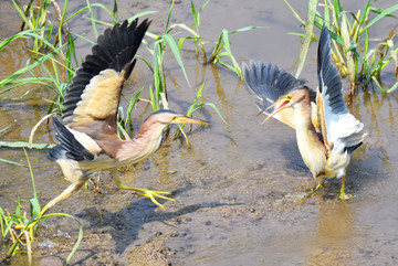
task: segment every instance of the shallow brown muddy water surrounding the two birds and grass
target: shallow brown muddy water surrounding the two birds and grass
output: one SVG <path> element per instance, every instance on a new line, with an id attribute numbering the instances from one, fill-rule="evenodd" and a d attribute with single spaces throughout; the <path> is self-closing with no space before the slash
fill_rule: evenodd
<path id="1" fill-rule="evenodd" d="M 354 1 L 352 1 L 354 2 Z M 12 7 L 1 2 L 1 36 L 14 34 L 19 24 Z M 198 6 L 201 4 L 197 3 Z M 346 9 L 362 8 L 345 3 Z M 388 1 L 377 1 L 385 8 Z M 71 7 L 76 11 L 77 6 Z M 108 6 L 111 9 L 112 7 Z M 168 1 L 121 2 L 119 18 L 144 10 L 160 10 L 151 17 L 150 31 L 165 26 Z M 306 2 L 295 3 L 305 15 Z M 4 10 L 8 10 L 4 13 Z M 102 20 L 105 13 L 97 12 Z M 191 25 L 189 2 L 176 3 L 175 22 Z M 301 32 L 283 1 L 211 1 L 201 17 L 202 35 L 216 40 L 222 29 L 247 25 L 266 26 L 231 36 L 238 62 L 265 60 L 294 73 L 301 40 L 289 32 Z M 383 38 L 396 23 L 387 19 L 376 25 L 371 38 Z M 7 25 L 7 26 L 6 26 Z M 71 29 L 93 39 L 91 22 L 75 19 Z M 180 35 L 184 35 L 180 34 Z M 7 76 L 23 66 L 28 58 L 24 42 L 15 42 L 1 53 L 0 75 Z M 212 46 L 206 46 L 210 52 Z M 80 41 L 78 56 L 90 51 Z M 145 49 L 139 53 L 148 56 Z M 315 45 L 311 50 L 302 77 L 316 86 Z M 123 173 L 127 184 L 172 191 L 176 202 L 156 208 L 149 200 L 121 191 L 107 174 L 102 174 L 100 190 L 80 191 L 56 205 L 52 212 L 64 212 L 78 219 L 84 240 L 73 257 L 76 265 L 395 265 L 398 259 L 398 95 L 383 95 L 377 88 L 360 88 L 349 109 L 365 124 L 369 137 L 353 156 L 347 170 L 347 191 L 353 199 L 336 200 L 338 180 L 327 180 L 311 199 L 294 196 L 314 185 L 310 171 L 298 153 L 294 131 L 261 117 L 245 85 L 230 71 L 203 65 L 189 44 L 184 62 L 190 87 L 171 55 L 167 56 L 170 108 L 185 113 L 200 84 L 205 82 L 203 100 L 213 103 L 222 113 L 223 124 L 210 108 L 196 116 L 210 126 L 193 127 L 190 147 L 171 139 L 175 128 L 160 149 L 135 170 Z M 138 74 L 139 73 L 139 74 Z M 39 73 L 40 74 L 40 73 Z M 41 73 L 43 74 L 43 73 Z M 384 82 L 394 84 L 392 73 Z M 137 88 L 151 84 L 144 64 L 138 63 L 125 88 L 127 98 Z M 46 111 L 53 92 L 28 87 L 28 97 L 0 102 L 1 140 L 27 141 L 30 129 Z M 18 97 L 24 91 L 12 92 Z M 146 92 L 143 97 L 148 97 Z M 142 102 L 134 113 L 135 132 L 150 114 Z M 42 126 L 36 142 L 53 142 L 51 128 Z M 29 150 L 36 189 L 42 204 L 57 195 L 67 182 L 60 169 L 45 159 L 45 150 Z M 27 164 L 23 151 L 0 149 L 0 158 Z M 18 196 L 32 196 L 29 170 L 1 163 L 0 202 L 4 210 L 14 210 Z M 96 178 L 94 179 L 96 181 Z M 28 203 L 24 204 L 28 208 Z M 77 225 L 67 219 L 43 222 L 34 243 L 34 264 L 63 262 L 77 235 Z M 7 245 L 1 245 L 1 256 Z M 24 265 L 17 256 L 14 265 Z"/>

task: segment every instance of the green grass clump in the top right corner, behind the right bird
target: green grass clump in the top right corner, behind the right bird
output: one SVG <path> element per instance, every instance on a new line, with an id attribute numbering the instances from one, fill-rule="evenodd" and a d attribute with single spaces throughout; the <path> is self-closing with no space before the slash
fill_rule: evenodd
<path id="1" fill-rule="evenodd" d="M 362 10 L 350 12 L 344 10 L 339 0 L 324 0 L 322 8 L 323 14 L 317 11 L 317 0 L 311 0 L 308 4 L 308 19 L 305 22 L 297 12 L 290 7 L 295 18 L 305 26 L 304 34 L 297 34 L 304 39 L 300 54 L 300 63 L 296 76 L 300 75 L 304 64 L 308 43 L 313 38 L 313 26 L 322 29 L 326 24 L 331 31 L 334 50 L 333 58 L 337 70 L 343 76 L 349 79 L 349 95 L 353 95 L 359 83 L 367 85 L 370 81 L 379 87 L 383 93 L 390 93 L 398 87 L 398 45 L 396 44 L 396 29 L 391 29 L 383 42 L 377 43 L 370 49 L 371 40 L 369 31 L 371 26 L 386 17 L 391 17 L 398 10 L 398 4 L 387 9 L 373 7 L 371 1 L 367 0 Z M 375 15 L 375 17 L 374 17 Z M 380 73 L 390 63 L 395 63 L 397 83 L 390 88 L 385 88 L 380 81 Z"/>

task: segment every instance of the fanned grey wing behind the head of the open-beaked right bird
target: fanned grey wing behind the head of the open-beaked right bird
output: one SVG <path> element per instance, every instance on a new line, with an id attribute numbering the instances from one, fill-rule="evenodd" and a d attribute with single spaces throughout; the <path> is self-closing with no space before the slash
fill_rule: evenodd
<path id="1" fill-rule="evenodd" d="M 272 106 L 280 97 L 295 89 L 308 89 L 303 79 L 297 79 L 290 73 L 270 63 L 253 61 L 242 65 L 244 81 L 252 93 L 261 100 L 256 103 L 260 110 Z M 310 89 L 308 89 L 310 91 Z M 310 91 L 312 93 L 312 91 Z M 277 106 L 272 106 L 265 113 L 270 115 Z M 285 108 L 273 116 L 295 129 L 294 111 Z"/>

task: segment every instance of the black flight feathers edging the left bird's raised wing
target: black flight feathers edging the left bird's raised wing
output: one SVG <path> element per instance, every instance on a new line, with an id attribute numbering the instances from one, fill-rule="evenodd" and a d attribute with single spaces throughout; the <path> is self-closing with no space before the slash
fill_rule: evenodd
<path id="1" fill-rule="evenodd" d="M 65 102 L 63 104 L 63 121 L 72 121 L 73 111 L 82 99 L 82 94 L 90 81 L 104 70 L 122 72 L 124 79 L 127 79 L 135 65 L 134 56 L 143 41 L 150 21 L 145 20 L 138 24 L 138 19 L 130 24 L 124 21 L 112 29 L 105 30 L 98 36 L 97 44 L 93 46 L 92 54 L 87 55 L 84 63 L 76 71 L 75 76 L 69 86 Z"/>

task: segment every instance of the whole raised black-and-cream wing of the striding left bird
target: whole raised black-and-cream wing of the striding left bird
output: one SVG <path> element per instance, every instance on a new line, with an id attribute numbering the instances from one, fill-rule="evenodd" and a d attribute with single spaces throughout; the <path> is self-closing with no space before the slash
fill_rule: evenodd
<path id="1" fill-rule="evenodd" d="M 107 29 L 92 54 L 76 71 L 65 96 L 62 121 L 82 126 L 106 120 L 116 131 L 116 114 L 124 82 L 133 71 L 139 44 L 150 22 L 138 20 Z"/>

